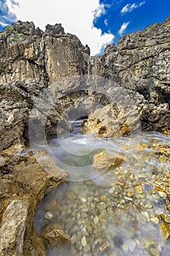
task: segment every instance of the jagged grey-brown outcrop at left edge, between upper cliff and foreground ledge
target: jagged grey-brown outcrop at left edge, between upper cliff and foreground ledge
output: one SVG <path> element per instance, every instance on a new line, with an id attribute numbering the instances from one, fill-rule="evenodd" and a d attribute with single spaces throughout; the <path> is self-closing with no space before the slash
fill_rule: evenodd
<path id="1" fill-rule="evenodd" d="M 61 119 L 61 107 L 54 99 L 53 94 L 50 91 L 46 92 L 45 88 L 45 84 L 37 80 L 16 81 L 0 85 L 0 150 L 15 143 L 24 143 L 28 139 L 30 116 L 32 122 L 36 121 L 36 124 L 30 124 L 30 136 L 32 133 L 34 138 L 42 138 L 42 129 L 46 129 L 49 135 L 56 134 L 57 131 L 58 134 L 60 133 L 57 124 Z M 39 102 L 37 102 L 38 100 Z M 31 115 L 31 109 L 35 104 L 36 110 Z M 46 117 L 47 110 L 50 110 L 50 113 Z M 46 118 L 45 126 L 43 121 Z M 63 125 L 68 127 L 68 123 L 64 120 Z"/>

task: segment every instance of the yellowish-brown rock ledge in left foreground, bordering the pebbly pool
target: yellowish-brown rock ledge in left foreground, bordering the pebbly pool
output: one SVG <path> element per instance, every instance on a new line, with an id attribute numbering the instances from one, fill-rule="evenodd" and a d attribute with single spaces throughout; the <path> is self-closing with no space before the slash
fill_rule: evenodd
<path id="1" fill-rule="evenodd" d="M 58 167 L 54 170 L 52 166 L 47 173 L 36 162 L 41 152 L 30 152 L 30 156 L 29 152 L 24 156 L 16 154 L 25 149 L 12 146 L 0 155 L 0 254 L 47 256 L 34 227 L 34 211 L 45 193 L 67 181 L 68 173 Z M 48 162 L 50 159 L 46 159 L 46 165 Z"/>

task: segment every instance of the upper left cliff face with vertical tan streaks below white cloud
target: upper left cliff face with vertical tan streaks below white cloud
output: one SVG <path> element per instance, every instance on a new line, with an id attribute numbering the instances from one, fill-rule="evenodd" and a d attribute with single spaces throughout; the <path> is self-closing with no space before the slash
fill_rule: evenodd
<path id="1" fill-rule="evenodd" d="M 0 82 L 38 79 L 47 86 L 56 78 L 84 74 L 86 52 L 61 24 L 47 25 L 43 32 L 34 23 L 18 21 L 0 34 Z"/>

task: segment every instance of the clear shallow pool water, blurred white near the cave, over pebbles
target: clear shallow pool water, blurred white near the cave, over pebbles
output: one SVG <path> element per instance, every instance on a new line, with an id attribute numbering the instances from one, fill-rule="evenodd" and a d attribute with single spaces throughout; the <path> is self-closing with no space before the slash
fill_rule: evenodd
<path id="1" fill-rule="evenodd" d="M 170 137 L 139 132 L 101 139 L 78 130 L 77 125 L 71 137 L 60 141 L 49 138 L 50 150 L 71 181 L 45 196 L 36 209 L 35 227 L 42 233 L 48 225 L 61 225 L 71 246 L 54 247 L 48 255 L 170 255 L 161 227 L 170 227 Z M 160 153 L 161 147 L 166 153 Z M 123 162 L 94 170 L 93 157 L 102 151 Z"/>

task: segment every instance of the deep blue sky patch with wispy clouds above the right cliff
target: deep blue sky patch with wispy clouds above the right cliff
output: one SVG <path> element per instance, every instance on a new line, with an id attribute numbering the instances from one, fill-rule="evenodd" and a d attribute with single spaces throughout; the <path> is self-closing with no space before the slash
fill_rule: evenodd
<path id="1" fill-rule="evenodd" d="M 110 31 L 114 34 L 115 43 L 124 34 L 143 30 L 155 22 L 161 23 L 170 15 L 169 0 L 101 0 L 100 4 L 105 6 L 104 14 L 93 20 L 93 24 L 102 33 Z M 125 30 L 120 31 L 121 26 Z"/>

